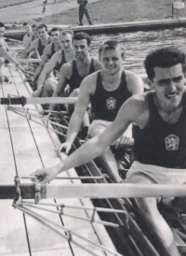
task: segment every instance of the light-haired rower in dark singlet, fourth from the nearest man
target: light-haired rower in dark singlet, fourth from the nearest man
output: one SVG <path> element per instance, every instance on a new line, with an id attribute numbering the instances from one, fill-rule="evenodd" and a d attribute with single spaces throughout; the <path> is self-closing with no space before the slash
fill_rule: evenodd
<path id="1" fill-rule="evenodd" d="M 33 97 L 51 96 L 57 88 L 58 79 L 54 76 L 48 78 L 49 74 L 53 70 L 57 71 L 59 74 L 62 64 L 73 60 L 73 31 L 63 30 L 60 33 L 60 43 L 62 50 L 56 52 L 45 64 L 44 69 L 38 78 L 37 90 L 33 92 Z"/>

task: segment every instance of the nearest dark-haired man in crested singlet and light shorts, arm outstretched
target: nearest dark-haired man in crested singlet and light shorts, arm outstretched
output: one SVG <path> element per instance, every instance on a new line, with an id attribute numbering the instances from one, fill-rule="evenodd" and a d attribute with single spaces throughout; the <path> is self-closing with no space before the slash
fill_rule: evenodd
<path id="1" fill-rule="evenodd" d="M 144 188 L 153 183 L 186 183 L 186 54 L 174 47 L 153 50 L 144 64 L 153 90 L 126 100 L 102 134 L 88 140 L 61 164 L 33 173 L 35 179 L 46 183 L 64 170 L 88 163 L 133 122 L 135 161 L 126 182 L 143 184 Z M 144 224 L 159 244 L 159 255 L 179 256 L 173 234 L 157 208 L 157 198 L 135 201 Z"/>

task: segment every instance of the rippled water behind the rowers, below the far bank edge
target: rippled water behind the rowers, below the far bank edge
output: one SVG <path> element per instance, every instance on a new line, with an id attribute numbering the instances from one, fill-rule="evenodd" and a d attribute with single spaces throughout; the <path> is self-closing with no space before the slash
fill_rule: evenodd
<path id="1" fill-rule="evenodd" d="M 143 60 L 148 52 L 159 47 L 170 45 L 178 46 L 179 49 L 186 50 L 186 28 L 165 29 L 156 31 L 139 31 L 133 33 L 101 34 L 92 37 L 92 56 L 98 57 L 98 48 L 102 41 L 106 39 L 116 39 L 121 42 L 126 50 L 126 69 L 137 74 L 144 73 Z M 138 62 L 130 62 L 129 58 L 137 58 Z"/>

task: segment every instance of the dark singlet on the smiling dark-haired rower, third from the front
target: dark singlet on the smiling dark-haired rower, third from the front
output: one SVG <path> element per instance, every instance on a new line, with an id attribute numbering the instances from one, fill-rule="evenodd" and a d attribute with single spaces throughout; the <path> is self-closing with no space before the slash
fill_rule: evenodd
<path id="1" fill-rule="evenodd" d="M 92 58 L 91 59 L 91 64 L 90 64 L 90 69 L 89 69 L 89 72 L 86 76 L 94 73 L 96 70 L 95 70 L 95 66 L 94 66 L 94 59 Z M 80 87 L 80 84 L 82 82 L 82 80 L 85 77 L 81 77 L 77 71 L 77 66 L 76 66 L 76 62 L 75 60 L 73 60 L 73 73 L 72 73 L 72 76 L 70 79 L 68 79 L 68 84 L 70 85 L 70 93 L 73 92 L 74 89 L 76 88 L 79 88 Z"/>

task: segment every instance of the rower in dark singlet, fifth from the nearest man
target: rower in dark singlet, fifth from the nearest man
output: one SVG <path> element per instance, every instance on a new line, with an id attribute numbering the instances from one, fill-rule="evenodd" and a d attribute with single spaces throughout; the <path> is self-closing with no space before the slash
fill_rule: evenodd
<path id="1" fill-rule="evenodd" d="M 43 51 L 41 63 L 38 65 L 38 67 L 34 72 L 33 81 L 39 78 L 42 70 L 44 69 L 44 65 L 47 63 L 48 60 L 51 59 L 54 53 L 62 49 L 62 46 L 60 44 L 60 28 L 59 27 L 54 27 L 51 29 L 51 38 L 52 38 L 52 43 L 46 45 Z"/>

